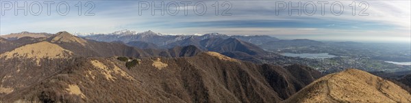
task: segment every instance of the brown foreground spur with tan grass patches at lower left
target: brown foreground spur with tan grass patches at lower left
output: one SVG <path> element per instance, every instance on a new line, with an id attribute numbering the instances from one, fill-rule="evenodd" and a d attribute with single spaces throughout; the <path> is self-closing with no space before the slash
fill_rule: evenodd
<path id="1" fill-rule="evenodd" d="M 121 69 L 121 72 L 116 72 L 115 68 L 118 66 L 111 61 L 86 58 L 75 61 L 75 64 L 60 70 L 57 74 L 5 95 L 0 101 L 149 102 L 153 100 L 153 102 L 160 102 L 166 99 L 164 98 L 166 94 L 154 95 L 143 90 L 138 80 L 122 74 L 127 71 Z M 99 61 L 104 65 L 93 64 L 92 61 Z M 107 68 L 102 68 L 104 66 Z M 107 78 L 109 75 L 112 78 Z M 76 87 L 79 89 L 75 89 Z"/>

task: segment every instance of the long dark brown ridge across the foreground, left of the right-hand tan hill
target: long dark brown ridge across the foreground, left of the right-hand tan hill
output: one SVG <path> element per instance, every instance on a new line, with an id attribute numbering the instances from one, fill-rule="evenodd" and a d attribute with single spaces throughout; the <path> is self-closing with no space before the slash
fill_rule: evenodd
<path id="1" fill-rule="evenodd" d="M 223 55 L 220 55 L 223 56 Z M 303 87 L 275 65 L 230 61 L 208 53 L 195 57 L 142 59 L 134 68 L 115 58 L 75 58 L 40 81 L 1 96 L 0 101 L 41 102 L 280 102 Z M 161 69 L 153 63 L 164 63 Z M 14 68 L 5 68 L 12 71 Z M 32 76 L 37 75 L 25 72 Z M 2 75 L 8 75 L 3 73 Z M 6 87 L 19 83 L 12 77 Z M 306 77 L 308 78 L 308 77 Z"/>

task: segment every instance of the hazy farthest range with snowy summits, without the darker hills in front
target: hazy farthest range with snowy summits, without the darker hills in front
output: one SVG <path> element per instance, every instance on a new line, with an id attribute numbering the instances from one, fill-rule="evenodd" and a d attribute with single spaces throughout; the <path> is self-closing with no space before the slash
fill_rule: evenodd
<path id="1" fill-rule="evenodd" d="M 179 40 L 186 40 L 187 38 L 195 38 L 197 40 L 206 40 L 208 38 L 238 38 L 245 42 L 250 42 L 252 44 L 264 44 L 266 42 L 278 40 L 268 35 L 252 35 L 252 36 L 242 36 L 242 35 L 224 35 L 221 33 L 206 33 L 204 35 L 163 35 L 161 33 L 155 33 L 153 31 L 145 31 L 142 33 L 136 33 L 136 31 L 115 31 L 114 33 L 103 33 L 103 34 L 93 34 L 93 35 L 79 35 L 82 38 L 87 38 L 90 40 L 97 40 L 101 42 L 149 42 L 156 44 L 157 46 L 165 46 Z"/>

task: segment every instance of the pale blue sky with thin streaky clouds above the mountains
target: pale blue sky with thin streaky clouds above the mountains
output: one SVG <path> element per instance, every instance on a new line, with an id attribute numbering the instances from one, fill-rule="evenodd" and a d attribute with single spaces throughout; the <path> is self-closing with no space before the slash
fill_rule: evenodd
<path id="1" fill-rule="evenodd" d="M 21 31 L 112 33 L 129 29 L 162 34 L 223 33 L 282 39 L 411 42 L 410 1 L 0 2 L 2 35 Z"/>

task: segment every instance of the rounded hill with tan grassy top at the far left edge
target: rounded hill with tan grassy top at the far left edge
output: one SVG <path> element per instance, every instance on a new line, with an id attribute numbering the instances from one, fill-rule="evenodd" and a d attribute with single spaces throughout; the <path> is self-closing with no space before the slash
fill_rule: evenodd
<path id="1" fill-rule="evenodd" d="M 0 94 L 0 97 L 62 70 L 58 67 L 70 64 L 72 61 L 67 60 L 71 55 L 71 51 L 46 41 L 26 44 L 0 54 L 0 88 L 8 90 Z"/>

